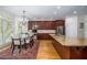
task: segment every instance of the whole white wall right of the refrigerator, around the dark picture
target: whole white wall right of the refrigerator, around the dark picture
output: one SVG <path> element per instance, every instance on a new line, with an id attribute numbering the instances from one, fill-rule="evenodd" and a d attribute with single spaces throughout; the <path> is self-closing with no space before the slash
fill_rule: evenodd
<path id="1" fill-rule="evenodd" d="M 84 28 L 80 29 L 80 23 Z M 87 15 L 68 17 L 65 20 L 66 37 L 87 39 Z"/>

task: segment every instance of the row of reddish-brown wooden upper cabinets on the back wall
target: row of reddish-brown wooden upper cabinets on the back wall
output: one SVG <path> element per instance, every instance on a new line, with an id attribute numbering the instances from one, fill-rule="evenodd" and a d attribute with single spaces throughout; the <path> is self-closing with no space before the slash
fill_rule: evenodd
<path id="1" fill-rule="evenodd" d="M 57 21 L 29 21 L 29 30 L 32 29 L 32 26 L 36 24 L 39 25 L 40 30 L 54 30 L 57 26 L 64 26 L 65 21 L 64 20 L 57 20 Z"/>

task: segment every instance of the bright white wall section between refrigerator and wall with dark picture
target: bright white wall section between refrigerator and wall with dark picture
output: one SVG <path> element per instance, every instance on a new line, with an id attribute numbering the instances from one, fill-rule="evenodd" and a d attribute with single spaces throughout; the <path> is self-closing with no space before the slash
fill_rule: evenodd
<path id="1" fill-rule="evenodd" d="M 66 18 L 65 28 L 67 39 L 77 39 L 77 17 Z"/>

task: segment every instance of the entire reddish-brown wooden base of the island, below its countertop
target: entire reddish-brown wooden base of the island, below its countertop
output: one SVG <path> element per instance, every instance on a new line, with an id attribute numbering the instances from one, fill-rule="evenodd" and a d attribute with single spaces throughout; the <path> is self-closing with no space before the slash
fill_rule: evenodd
<path id="1" fill-rule="evenodd" d="M 56 40 L 53 40 L 53 45 L 63 59 L 87 59 L 86 46 L 64 46 Z"/>

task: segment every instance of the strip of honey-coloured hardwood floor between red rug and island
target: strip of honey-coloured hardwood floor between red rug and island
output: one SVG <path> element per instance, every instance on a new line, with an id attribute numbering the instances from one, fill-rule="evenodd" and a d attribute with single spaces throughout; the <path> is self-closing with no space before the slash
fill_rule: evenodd
<path id="1" fill-rule="evenodd" d="M 36 59 L 61 59 L 51 40 L 40 40 Z"/>

